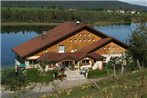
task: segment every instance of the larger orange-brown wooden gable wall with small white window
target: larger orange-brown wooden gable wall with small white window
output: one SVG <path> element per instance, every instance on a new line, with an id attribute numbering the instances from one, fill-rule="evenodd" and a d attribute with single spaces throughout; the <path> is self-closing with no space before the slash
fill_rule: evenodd
<path id="1" fill-rule="evenodd" d="M 103 37 L 104 36 L 97 35 L 97 33 L 94 32 L 93 30 L 89 30 L 88 28 L 83 28 L 82 30 L 76 32 L 75 34 L 64 38 L 62 41 L 38 52 L 35 55 L 40 56 L 46 52 L 58 52 L 58 47 L 60 45 L 65 46 L 65 52 L 71 52 L 72 50 L 79 51 L 83 47 L 90 45 L 93 42 L 102 39 Z"/>

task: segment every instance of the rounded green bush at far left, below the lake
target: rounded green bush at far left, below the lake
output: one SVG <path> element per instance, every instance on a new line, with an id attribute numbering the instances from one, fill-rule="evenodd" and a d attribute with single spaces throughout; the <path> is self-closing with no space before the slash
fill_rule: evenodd
<path id="1" fill-rule="evenodd" d="M 5 90 L 19 91 L 25 88 L 28 82 L 22 71 L 17 74 L 15 69 L 4 69 L 2 70 L 1 84 Z"/>

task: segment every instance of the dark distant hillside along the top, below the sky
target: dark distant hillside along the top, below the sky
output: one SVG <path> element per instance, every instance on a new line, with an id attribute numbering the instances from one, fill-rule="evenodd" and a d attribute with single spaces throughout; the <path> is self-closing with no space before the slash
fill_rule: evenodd
<path id="1" fill-rule="evenodd" d="M 2 1 L 2 7 L 63 7 L 73 9 L 135 9 L 147 11 L 147 7 L 121 1 Z"/>

